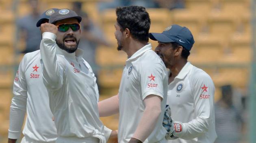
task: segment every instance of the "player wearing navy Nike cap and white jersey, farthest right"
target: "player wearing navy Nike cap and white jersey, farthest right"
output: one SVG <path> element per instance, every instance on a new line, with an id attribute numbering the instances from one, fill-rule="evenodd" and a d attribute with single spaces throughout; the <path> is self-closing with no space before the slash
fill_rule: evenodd
<path id="1" fill-rule="evenodd" d="M 215 86 L 205 71 L 187 61 L 193 35 L 187 27 L 171 25 L 163 33 L 150 33 L 150 39 L 158 41 L 155 52 L 170 69 L 167 104 L 174 130 L 167 139 L 175 140 L 169 143 L 213 143 Z"/>

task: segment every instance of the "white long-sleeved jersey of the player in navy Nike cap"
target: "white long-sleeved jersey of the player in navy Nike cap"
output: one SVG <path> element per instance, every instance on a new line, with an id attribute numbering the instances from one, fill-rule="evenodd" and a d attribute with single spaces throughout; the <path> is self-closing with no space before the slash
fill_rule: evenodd
<path id="1" fill-rule="evenodd" d="M 202 69 L 187 62 L 168 86 L 171 118 L 183 123 L 180 137 L 169 143 L 213 143 L 215 132 L 213 80 Z M 181 139 L 182 138 L 182 139 Z M 186 140 L 185 140 L 186 139 Z"/>

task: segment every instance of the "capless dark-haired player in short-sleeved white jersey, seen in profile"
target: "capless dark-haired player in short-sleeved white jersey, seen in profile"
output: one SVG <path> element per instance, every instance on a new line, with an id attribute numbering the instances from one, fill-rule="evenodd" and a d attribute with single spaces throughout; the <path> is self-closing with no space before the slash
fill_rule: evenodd
<path id="1" fill-rule="evenodd" d="M 166 143 L 162 126 L 167 99 L 163 61 L 148 44 L 150 17 L 142 6 L 116 9 L 117 50 L 128 55 L 119 95 L 100 103 L 100 116 L 119 112 L 119 143 Z"/>

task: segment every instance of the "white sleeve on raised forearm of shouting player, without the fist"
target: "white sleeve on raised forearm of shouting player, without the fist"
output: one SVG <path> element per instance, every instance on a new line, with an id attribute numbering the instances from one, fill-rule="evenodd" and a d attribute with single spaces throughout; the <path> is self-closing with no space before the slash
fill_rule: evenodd
<path id="1" fill-rule="evenodd" d="M 61 84 L 60 71 L 57 64 L 55 38 L 55 34 L 44 32 L 40 44 L 41 58 L 43 61 L 43 78 L 46 84 L 53 88 Z"/>

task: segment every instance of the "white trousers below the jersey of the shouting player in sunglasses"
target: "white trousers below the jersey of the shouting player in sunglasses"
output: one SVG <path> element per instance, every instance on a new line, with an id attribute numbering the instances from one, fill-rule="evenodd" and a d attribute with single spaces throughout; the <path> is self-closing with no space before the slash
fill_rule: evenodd
<path id="1" fill-rule="evenodd" d="M 100 139 L 96 137 L 58 137 L 56 143 L 100 143 Z"/>

